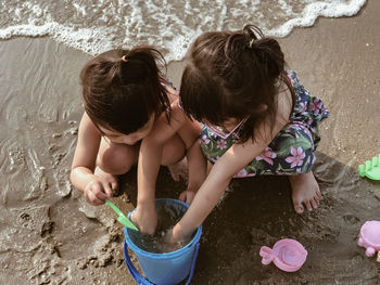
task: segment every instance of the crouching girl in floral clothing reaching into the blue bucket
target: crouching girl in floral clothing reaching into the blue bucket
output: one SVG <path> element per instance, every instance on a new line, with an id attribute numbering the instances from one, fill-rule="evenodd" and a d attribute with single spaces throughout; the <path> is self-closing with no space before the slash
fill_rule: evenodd
<path id="1" fill-rule="evenodd" d="M 236 177 L 287 174 L 295 211 L 317 208 L 321 194 L 312 166 L 318 125 L 328 111 L 286 69 L 278 41 L 249 25 L 201 35 L 188 56 L 180 104 L 203 124 L 201 146 L 210 172 L 169 238 L 197 229 Z M 153 181 L 153 176 L 143 178 Z"/>

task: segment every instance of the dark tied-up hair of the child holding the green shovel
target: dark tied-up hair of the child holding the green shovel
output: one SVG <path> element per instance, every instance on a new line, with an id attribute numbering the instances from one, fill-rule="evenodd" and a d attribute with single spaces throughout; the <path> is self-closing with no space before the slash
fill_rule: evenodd
<path id="1" fill-rule="evenodd" d="M 152 114 L 165 112 L 169 119 L 163 66 L 164 57 L 152 47 L 98 55 L 80 73 L 86 113 L 97 126 L 124 134 L 139 130 Z"/>

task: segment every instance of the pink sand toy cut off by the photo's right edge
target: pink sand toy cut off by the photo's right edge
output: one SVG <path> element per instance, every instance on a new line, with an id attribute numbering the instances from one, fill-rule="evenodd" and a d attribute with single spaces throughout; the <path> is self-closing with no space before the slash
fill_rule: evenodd
<path id="1" fill-rule="evenodd" d="M 366 248 L 367 257 L 380 251 L 380 221 L 366 221 L 362 225 L 357 245 Z"/>

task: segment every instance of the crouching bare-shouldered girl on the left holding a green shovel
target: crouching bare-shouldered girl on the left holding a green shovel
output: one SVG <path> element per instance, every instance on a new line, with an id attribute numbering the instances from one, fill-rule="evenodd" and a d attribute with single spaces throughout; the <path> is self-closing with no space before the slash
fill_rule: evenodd
<path id="1" fill-rule="evenodd" d="M 100 205 L 112 198 L 118 186 L 116 176 L 126 173 L 137 163 L 141 140 L 160 118 L 176 129 L 165 142 L 160 164 L 168 166 L 178 179 L 178 172 L 186 170 L 178 163 L 187 154 L 188 191 L 193 192 L 202 183 L 204 178 L 197 180 L 199 176 L 192 174 L 191 167 L 204 165 L 195 143 L 201 128 L 178 107 L 178 93 L 160 72 L 164 65 L 157 50 L 137 47 L 104 52 L 81 70 L 85 113 L 71 181 L 90 204 Z"/>

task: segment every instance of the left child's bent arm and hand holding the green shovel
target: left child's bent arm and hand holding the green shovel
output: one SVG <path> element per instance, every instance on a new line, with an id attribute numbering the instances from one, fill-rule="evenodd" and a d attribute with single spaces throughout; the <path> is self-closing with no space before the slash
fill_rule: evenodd
<path id="1" fill-rule="evenodd" d="M 105 199 L 112 198 L 112 189 L 117 186 L 93 174 L 100 141 L 99 130 L 85 113 L 79 124 L 69 178 L 73 185 L 83 192 L 87 202 L 92 205 L 101 205 Z"/>

